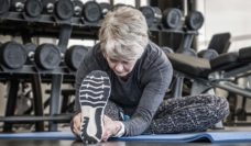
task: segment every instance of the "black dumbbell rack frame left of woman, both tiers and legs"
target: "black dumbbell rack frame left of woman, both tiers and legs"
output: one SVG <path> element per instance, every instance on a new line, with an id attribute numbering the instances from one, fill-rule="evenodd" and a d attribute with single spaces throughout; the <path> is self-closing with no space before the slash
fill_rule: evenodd
<path id="1" fill-rule="evenodd" d="M 95 24 L 83 24 L 80 23 L 80 19 L 73 18 L 70 21 L 57 21 L 52 15 L 41 15 L 37 20 L 28 20 L 24 14 L 21 12 L 8 12 L 8 14 L 1 15 L 0 23 L 0 33 L 4 35 L 17 35 L 18 33 L 22 33 L 23 30 L 29 31 L 29 35 L 31 36 L 46 36 L 46 37 L 59 37 L 58 46 L 65 52 L 69 36 L 72 34 L 73 27 L 78 32 L 77 35 L 73 35 L 75 37 L 80 36 L 90 36 L 91 38 L 97 37 L 92 30 L 98 30 L 98 26 Z M 18 24 L 18 25 L 17 25 Z M 80 29 L 87 31 L 79 31 Z M 91 30 L 91 31 L 90 31 Z M 79 33 L 84 32 L 84 33 Z M 87 32 L 85 34 L 85 32 Z M 97 32 L 97 31 L 96 31 Z M 10 132 L 12 124 L 11 123 L 35 123 L 36 131 L 44 131 L 44 121 L 50 121 L 50 131 L 56 131 L 57 125 L 54 122 L 69 122 L 70 115 L 66 116 L 55 116 L 59 114 L 59 98 L 61 97 L 61 85 L 63 82 L 63 75 L 67 75 L 68 82 L 74 82 L 75 71 L 67 69 L 65 66 L 59 66 L 53 70 L 43 70 L 40 69 L 35 64 L 24 65 L 21 69 L 8 69 L 3 66 L 0 66 L 0 80 L 11 82 L 10 91 L 8 96 L 8 103 L 6 111 L 6 117 L 1 117 L 1 122 L 7 122 L 4 124 L 3 131 Z M 18 77 L 18 78 L 15 78 Z M 32 83 L 32 89 L 34 93 L 34 114 L 35 116 L 13 116 L 14 114 L 14 105 L 17 101 L 17 92 L 19 90 L 20 78 L 28 80 Z M 42 104 L 42 91 L 41 91 L 41 82 L 47 81 L 52 82 L 52 93 L 51 93 L 51 109 L 50 115 L 45 116 L 43 114 L 43 104 Z M 66 79 L 67 80 L 67 79 Z"/>

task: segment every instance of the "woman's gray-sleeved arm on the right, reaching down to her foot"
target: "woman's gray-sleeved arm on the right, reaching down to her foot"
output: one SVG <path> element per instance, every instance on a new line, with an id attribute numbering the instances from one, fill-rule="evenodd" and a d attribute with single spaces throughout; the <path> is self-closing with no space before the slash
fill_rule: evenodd
<path id="1" fill-rule="evenodd" d="M 152 122 L 152 119 L 163 101 L 165 92 L 173 77 L 173 68 L 170 61 L 156 65 L 148 70 L 142 81 L 145 82 L 140 103 L 129 121 L 123 122 L 124 135 L 139 135 L 143 133 Z"/>

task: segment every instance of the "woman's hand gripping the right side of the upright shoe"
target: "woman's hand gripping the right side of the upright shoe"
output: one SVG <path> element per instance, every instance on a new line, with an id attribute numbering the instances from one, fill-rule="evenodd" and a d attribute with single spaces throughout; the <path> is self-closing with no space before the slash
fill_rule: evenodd
<path id="1" fill-rule="evenodd" d="M 121 123 L 119 121 L 112 121 L 108 116 L 103 116 L 103 135 L 102 141 L 107 142 L 107 139 L 113 135 L 116 135 L 121 128 Z"/>

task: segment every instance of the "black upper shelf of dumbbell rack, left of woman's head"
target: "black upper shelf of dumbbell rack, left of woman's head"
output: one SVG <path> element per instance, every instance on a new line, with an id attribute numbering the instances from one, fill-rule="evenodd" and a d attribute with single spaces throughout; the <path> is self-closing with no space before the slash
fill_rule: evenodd
<path id="1" fill-rule="evenodd" d="M 22 30 L 29 31 L 32 36 L 58 37 L 62 25 L 70 25 L 73 27 L 72 38 L 97 38 L 97 31 L 100 22 L 90 23 L 84 21 L 83 18 L 72 18 L 67 21 L 59 21 L 51 14 L 42 14 L 40 19 L 25 19 L 22 12 L 8 12 L 0 15 L 0 33 L 17 34 Z"/>

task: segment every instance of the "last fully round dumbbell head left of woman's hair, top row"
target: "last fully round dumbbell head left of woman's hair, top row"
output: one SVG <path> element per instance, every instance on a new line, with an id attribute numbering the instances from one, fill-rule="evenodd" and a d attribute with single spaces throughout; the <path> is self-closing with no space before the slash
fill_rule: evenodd
<path id="1" fill-rule="evenodd" d="M 88 22 L 97 22 L 101 19 L 102 11 L 96 1 L 88 1 L 84 4 L 83 15 Z"/>

